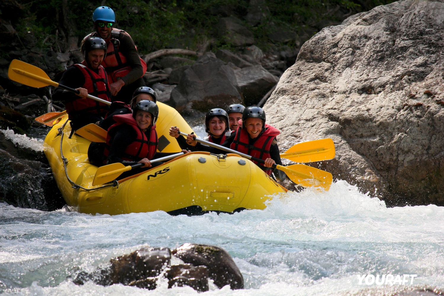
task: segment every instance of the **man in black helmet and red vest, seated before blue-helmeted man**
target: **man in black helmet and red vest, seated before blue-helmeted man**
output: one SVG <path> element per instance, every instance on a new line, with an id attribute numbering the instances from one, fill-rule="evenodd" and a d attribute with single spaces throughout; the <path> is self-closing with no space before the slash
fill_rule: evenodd
<path id="1" fill-rule="evenodd" d="M 107 45 L 103 39 L 88 38 L 82 47 L 84 56 L 82 63 L 69 67 L 59 80 L 60 84 L 80 91 L 79 95 L 61 88 L 56 88 L 52 94 L 52 99 L 65 103 L 72 131 L 89 123 L 98 122 L 107 114 L 109 108 L 106 104 L 87 98 L 89 94 L 111 101 L 107 74 L 100 65 L 106 50 Z"/>

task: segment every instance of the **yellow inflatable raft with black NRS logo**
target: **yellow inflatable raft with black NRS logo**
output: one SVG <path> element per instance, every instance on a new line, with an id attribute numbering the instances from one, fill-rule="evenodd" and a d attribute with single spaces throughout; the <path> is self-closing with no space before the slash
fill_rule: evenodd
<path id="1" fill-rule="evenodd" d="M 159 150 L 178 152 L 176 140 L 168 135 L 170 126 L 187 133 L 192 130 L 176 110 L 158 105 Z M 87 158 L 91 142 L 76 134 L 68 138 L 71 127 L 67 120 L 67 115 L 57 119 L 45 138 L 44 151 L 67 205 L 80 213 L 233 213 L 264 209 L 270 196 L 286 191 L 246 158 L 206 152 L 179 156 L 119 183 L 92 186 L 97 167 Z"/>

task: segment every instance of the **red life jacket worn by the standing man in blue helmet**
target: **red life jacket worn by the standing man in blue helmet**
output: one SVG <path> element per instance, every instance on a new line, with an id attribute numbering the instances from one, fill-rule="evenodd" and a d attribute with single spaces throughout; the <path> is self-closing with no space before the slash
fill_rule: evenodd
<path id="1" fill-rule="evenodd" d="M 108 79 L 109 79 L 110 83 L 115 83 L 120 78 L 128 75 L 128 73 L 132 70 L 132 68 L 127 63 L 127 58 L 119 50 L 119 46 L 120 46 L 119 36 L 120 36 L 120 34 L 127 35 L 128 37 L 131 38 L 131 36 L 123 30 L 112 29 L 111 38 L 108 40 L 108 43 L 107 43 L 107 47 L 108 47 L 107 56 L 105 57 L 105 59 L 103 59 L 103 62 L 102 62 L 102 66 L 105 68 L 105 70 L 108 73 Z M 87 39 L 91 36 L 100 37 L 96 32 L 93 32 L 93 33 L 87 35 L 83 39 Z M 137 47 L 136 47 L 136 50 L 137 50 Z M 145 63 L 145 61 L 143 59 L 141 59 L 141 58 L 139 58 L 139 59 L 140 59 L 140 63 L 142 64 L 143 74 L 145 74 L 145 72 L 147 71 L 147 63 Z M 143 74 L 142 74 L 142 76 L 143 76 Z M 142 76 L 140 76 L 140 77 L 142 77 Z"/>

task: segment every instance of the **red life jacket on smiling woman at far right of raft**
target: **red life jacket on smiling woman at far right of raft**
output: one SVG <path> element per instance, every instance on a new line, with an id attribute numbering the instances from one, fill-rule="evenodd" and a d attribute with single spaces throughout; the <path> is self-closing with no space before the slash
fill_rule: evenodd
<path id="1" fill-rule="evenodd" d="M 259 136 L 259 138 L 254 142 L 253 145 L 250 145 L 248 142 L 250 138 L 248 132 L 246 131 L 246 129 L 243 129 L 241 126 L 239 126 L 230 148 L 244 154 L 251 155 L 255 158 L 266 160 L 267 158 L 270 158 L 271 143 L 278 134 L 280 134 L 279 130 L 277 130 L 273 126 L 266 124 L 265 131 Z M 272 168 L 267 168 L 259 162 L 253 162 L 262 170 L 264 170 L 267 174 L 271 174 Z"/>

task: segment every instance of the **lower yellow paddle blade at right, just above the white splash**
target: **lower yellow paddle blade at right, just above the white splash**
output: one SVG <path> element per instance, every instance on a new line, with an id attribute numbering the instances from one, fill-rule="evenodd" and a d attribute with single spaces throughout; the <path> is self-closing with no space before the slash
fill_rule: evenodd
<path id="1" fill-rule="evenodd" d="M 321 187 L 325 190 L 330 189 L 333 182 L 333 176 L 325 170 L 319 170 L 312 166 L 295 164 L 291 166 L 279 166 L 276 168 L 287 174 L 291 181 L 303 187 Z"/>

